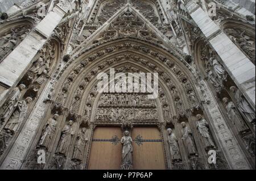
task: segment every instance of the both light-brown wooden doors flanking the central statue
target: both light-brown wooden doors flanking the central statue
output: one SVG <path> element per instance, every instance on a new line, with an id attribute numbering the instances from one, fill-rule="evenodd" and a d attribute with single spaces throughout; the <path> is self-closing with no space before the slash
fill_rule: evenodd
<path id="1" fill-rule="evenodd" d="M 122 129 L 97 127 L 93 133 L 88 169 L 118 170 L 122 162 Z M 164 170 L 163 140 L 158 128 L 135 127 L 133 138 L 133 169 Z"/>

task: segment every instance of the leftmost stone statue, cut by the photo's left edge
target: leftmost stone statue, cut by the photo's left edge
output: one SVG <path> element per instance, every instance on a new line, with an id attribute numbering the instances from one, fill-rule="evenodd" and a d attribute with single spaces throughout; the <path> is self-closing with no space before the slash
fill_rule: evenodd
<path id="1" fill-rule="evenodd" d="M 18 87 L 15 87 L 13 91 L 11 91 L 11 94 L 7 98 L 7 103 L 3 106 L 4 111 L 1 114 L 1 121 L 4 121 L 6 118 L 8 118 L 15 107 L 18 106 L 20 95 L 25 88 L 25 85 L 20 84 Z"/>

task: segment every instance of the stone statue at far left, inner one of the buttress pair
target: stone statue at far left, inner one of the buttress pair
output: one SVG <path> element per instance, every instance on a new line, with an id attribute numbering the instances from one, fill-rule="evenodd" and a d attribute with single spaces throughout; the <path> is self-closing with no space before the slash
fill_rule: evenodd
<path id="1" fill-rule="evenodd" d="M 11 115 L 10 119 L 7 121 L 4 129 L 9 130 L 12 133 L 18 131 L 20 124 L 27 115 L 28 104 L 30 104 L 31 101 L 32 98 L 27 97 L 25 100 L 17 103 L 17 106 L 15 107 L 15 110 Z"/>

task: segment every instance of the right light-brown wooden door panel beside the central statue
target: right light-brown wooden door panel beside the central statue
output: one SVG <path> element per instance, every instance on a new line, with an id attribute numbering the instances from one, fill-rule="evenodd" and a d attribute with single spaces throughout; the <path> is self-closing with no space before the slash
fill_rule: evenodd
<path id="1" fill-rule="evenodd" d="M 141 144 L 136 140 L 141 137 Z M 164 149 L 158 128 L 133 128 L 133 167 L 135 170 L 164 170 Z"/>

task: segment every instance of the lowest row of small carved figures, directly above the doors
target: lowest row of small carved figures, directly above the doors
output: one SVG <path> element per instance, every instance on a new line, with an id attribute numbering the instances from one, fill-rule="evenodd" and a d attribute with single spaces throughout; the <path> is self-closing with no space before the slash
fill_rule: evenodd
<path id="1" fill-rule="evenodd" d="M 138 108 L 98 108 L 96 120 L 158 120 L 158 111 L 156 109 Z"/>

